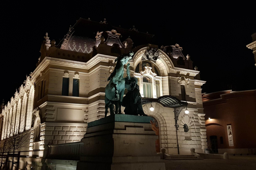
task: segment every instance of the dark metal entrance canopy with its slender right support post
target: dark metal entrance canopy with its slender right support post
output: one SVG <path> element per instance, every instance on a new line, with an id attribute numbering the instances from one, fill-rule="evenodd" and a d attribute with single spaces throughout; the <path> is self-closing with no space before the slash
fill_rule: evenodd
<path id="1" fill-rule="evenodd" d="M 187 108 L 188 103 L 187 102 L 182 102 L 176 97 L 170 96 L 170 95 L 165 95 L 161 96 L 158 98 L 145 98 L 142 99 L 141 103 L 142 104 L 147 104 L 147 103 L 160 103 L 163 107 L 168 107 L 168 108 L 173 108 L 174 109 L 174 120 L 175 120 L 175 128 L 176 128 L 176 138 L 177 138 L 177 148 L 178 148 L 178 154 L 180 154 L 179 150 L 179 143 L 178 143 L 178 133 L 177 131 L 179 130 L 179 125 L 178 125 L 178 120 L 179 120 L 179 115 L 180 112 Z"/>

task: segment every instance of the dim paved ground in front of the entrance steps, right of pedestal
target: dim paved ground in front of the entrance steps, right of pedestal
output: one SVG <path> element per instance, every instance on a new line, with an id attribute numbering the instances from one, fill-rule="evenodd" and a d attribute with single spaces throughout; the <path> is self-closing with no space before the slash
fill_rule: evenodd
<path id="1" fill-rule="evenodd" d="M 230 156 L 230 159 L 162 160 L 166 170 L 256 170 L 256 156 Z"/>

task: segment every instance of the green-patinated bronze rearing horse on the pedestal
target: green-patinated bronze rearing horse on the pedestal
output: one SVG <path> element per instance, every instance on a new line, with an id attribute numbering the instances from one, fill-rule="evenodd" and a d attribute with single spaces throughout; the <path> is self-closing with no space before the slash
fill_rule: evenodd
<path id="1" fill-rule="evenodd" d="M 114 71 L 108 78 L 110 82 L 105 88 L 105 117 L 108 114 L 108 108 L 110 109 L 110 115 L 121 114 L 121 105 L 124 96 L 125 79 L 124 79 L 124 65 L 132 59 L 133 52 L 128 54 L 122 54 L 115 59 L 116 66 Z M 114 111 L 114 106 L 116 109 Z"/>

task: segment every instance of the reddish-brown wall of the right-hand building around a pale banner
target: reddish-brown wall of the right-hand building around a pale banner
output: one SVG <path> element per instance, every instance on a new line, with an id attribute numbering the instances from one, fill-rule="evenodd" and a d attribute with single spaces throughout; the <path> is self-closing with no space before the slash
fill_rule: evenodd
<path id="1" fill-rule="evenodd" d="M 207 138 L 216 135 L 218 148 L 256 148 L 256 90 L 225 94 L 203 106 Z M 228 144 L 227 124 L 232 125 L 234 146 Z"/>

